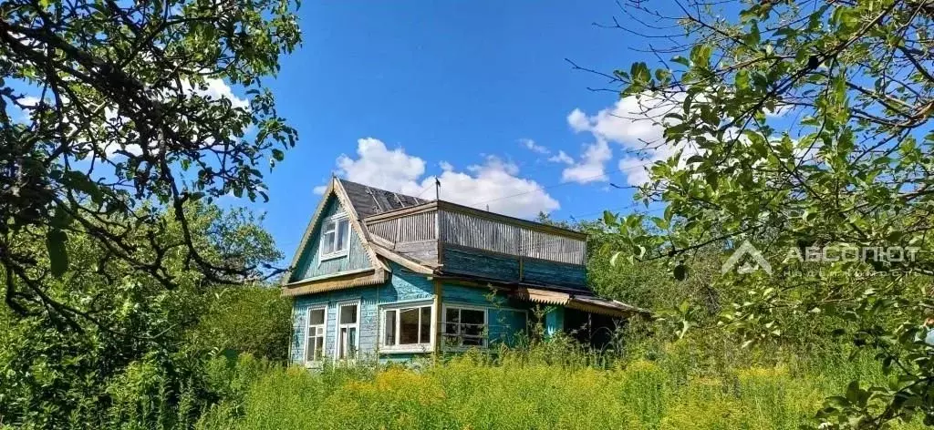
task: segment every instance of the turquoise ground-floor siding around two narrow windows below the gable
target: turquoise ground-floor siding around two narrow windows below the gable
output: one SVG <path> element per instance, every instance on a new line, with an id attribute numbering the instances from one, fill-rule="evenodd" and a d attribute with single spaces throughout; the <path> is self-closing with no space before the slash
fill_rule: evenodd
<path id="1" fill-rule="evenodd" d="M 334 354 L 334 340 L 337 339 L 337 308 L 341 303 L 360 300 L 360 352 L 362 358 L 373 358 L 379 336 L 379 306 L 401 301 L 434 298 L 434 284 L 424 275 L 402 270 L 392 265 L 392 276 L 386 284 L 347 288 L 302 296 L 293 304 L 294 325 L 292 329 L 291 360 L 293 363 L 304 362 L 305 329 L 307 310 L 326 305 L 326 333 L 324 351 L 328 356 Z"/>

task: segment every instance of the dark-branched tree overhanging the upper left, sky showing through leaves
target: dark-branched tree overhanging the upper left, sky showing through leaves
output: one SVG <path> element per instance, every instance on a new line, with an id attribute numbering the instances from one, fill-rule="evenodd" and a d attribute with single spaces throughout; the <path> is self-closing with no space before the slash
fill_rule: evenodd
<path id="1" fill-rule="evenodd" d="M 115 2 L 11 0 L 0 5 L 0 265 L 5 298 L 41 304 L 74 328 L 86 309 L 48 285 L 74 268 L 67 242 L 102 246 L 97 264 L 127 264 L 165 288 L 164 264 L 236 283 L 267 267 L 199 251 L 187 202 L 266 198 L 263 163 L 296 132 L 261 79 L 300 41 L 290 0 Z M 223 96 L 226 83 L 248 102 Z M 162 216 L 163 210 L 173 215 Z M 161 237 L 174 219 L 175 242 Z M 128 238 L 148 238 L 141 251 Z M 35 249 L 33 243 L 45 243 Z M 85 321 L 78 321 L 83 319 Z"/>

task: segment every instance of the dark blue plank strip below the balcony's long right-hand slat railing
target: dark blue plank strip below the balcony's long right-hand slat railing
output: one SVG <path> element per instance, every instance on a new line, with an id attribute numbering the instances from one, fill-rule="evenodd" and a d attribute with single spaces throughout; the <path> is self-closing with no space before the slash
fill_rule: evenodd
<path id="1" fill-rule="evenodd" d="M 506 282 L 519 281 L 519 258 L 478 249 L 446 246 L 444 270 L 448 273 L 480 276 Z M 587 289 L 587 268 L 534 258 L 522 260 L 523 282 Z"/>

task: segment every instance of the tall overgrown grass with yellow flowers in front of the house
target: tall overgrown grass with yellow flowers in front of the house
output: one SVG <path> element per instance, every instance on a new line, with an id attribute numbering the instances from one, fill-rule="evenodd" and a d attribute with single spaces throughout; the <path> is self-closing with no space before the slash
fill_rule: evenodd
<path id="1" fill-rule="evenodd" d="M 198 428 L 797 429 L 849 381 L 884 381 L 868 357 L 741 354 L 710 366 L 687 343 L 661 350 L 607 360 L 545 347 L 320 373 L 241 358 L 219 366 L 248 377 L 225 376 L 240 387 Z"/>

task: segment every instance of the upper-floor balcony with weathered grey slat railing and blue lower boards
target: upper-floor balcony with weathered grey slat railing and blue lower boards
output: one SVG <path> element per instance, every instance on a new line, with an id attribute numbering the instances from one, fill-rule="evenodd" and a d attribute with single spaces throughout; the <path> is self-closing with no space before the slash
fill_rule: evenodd
<path id="1" fill-rule="evenodd" d="M 374 243 L 442 273 L 586 287 L 587 235 L 448 201 L 363 220 Z"/>

